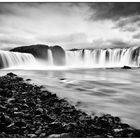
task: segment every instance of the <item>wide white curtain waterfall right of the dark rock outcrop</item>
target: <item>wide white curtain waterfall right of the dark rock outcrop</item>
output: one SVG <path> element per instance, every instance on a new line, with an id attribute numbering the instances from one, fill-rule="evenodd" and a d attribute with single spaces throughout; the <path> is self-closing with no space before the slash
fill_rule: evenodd
<path id="1" fill-rule="evenodd" d="M 66 64 L 79 67 L 140 66 L 140 47 L 66 51 Z"/>

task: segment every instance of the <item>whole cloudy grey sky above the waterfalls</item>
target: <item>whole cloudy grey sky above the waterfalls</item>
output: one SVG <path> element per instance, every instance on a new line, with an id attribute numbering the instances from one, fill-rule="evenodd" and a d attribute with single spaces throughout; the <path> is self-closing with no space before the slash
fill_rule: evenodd
<path id="1" fill-rule="evenodd" d="M 140 3 L 0 3 L 0 49 L 33 44 L 139 46 Z"/>

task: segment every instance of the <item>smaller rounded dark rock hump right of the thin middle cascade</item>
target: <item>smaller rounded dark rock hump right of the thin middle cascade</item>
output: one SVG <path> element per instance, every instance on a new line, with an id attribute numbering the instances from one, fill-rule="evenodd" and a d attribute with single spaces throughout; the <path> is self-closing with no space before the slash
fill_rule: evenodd
<path id="1" fill-rule="evenodd" d="M 55 65 L 65 64 L 65 51 L 60 46 L 53 46 L 50 48 L 53 55 L 53 63 Z"/>

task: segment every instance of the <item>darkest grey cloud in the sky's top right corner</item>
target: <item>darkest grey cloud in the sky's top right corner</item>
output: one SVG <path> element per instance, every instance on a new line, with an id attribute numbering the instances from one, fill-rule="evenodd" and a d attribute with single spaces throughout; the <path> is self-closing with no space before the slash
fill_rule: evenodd
<path id="1" fill-rule="evenodd" d="M 139 2 L 99 2 L 88 3 L 90 10 L 93 11 L 91 18 L 97 20 L 118 20 L 120 18 L 139 15 Z"/>

